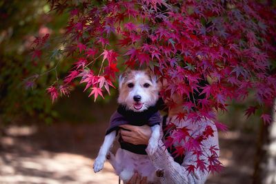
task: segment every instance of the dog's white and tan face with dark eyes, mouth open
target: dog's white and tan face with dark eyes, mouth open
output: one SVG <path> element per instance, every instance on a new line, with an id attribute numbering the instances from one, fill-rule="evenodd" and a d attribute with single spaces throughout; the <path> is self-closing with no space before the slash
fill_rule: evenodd
<path id="1" fill-rule="evenodd" d="M 142 112 L 158 100 L 157 79 L 150 72 L 129 70 L 119 77 L 118 103 L 135 112 Z"/>

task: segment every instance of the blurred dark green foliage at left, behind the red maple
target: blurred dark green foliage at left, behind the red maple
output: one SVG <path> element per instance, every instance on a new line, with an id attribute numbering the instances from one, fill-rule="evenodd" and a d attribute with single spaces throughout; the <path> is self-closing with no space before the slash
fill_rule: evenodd
<path id="1" fill-rule="evenodd" d="M 52 34 L 51 42 L 59 37 L 68 14 L 59 16 L 49 12 L 46 1 L 0 1 L 0 116 L 3 122 L 36 116 L 46 122 L 56 116 L 46 94 L 55 72 L 43 74 L 55 67 L 59 59 L 57 45 L 46 44 L 48 56 L 32 53 L 35 36 Z M 50 56 L 50 57 L 49 57 Z M 39 58 L 39 61 L 37 60 Z M 57 73 L 68 70 L 59 67 Z M 26 81 L 28 77 L 32 81 Z M 38 77 L 39 76 L 39 77 Z"/>

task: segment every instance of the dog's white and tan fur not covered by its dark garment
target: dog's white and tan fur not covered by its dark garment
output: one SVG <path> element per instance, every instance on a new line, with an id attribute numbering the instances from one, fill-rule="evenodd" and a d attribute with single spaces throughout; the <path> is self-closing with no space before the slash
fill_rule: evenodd
<path id="1" fill-rule="evenodd" d="M 157 79 L 150 72 L 130 70 L 119 77 L 118 103 L 125 105 L 133 112 L 144 112 L 155 105 L 159 99 L 158 92 Z M 151 130 L 152 134 L 146 148 L 148 154 L 153 154 L 157 149 L 160 125 L 151 126 Z M 110 154 L 109 150 L 115 137 L 116 131 L 106 135 L 93 165 L 95 172 L 103 169 L 103 163 L 106 161 L 106 156 Z M 149 182 L 156 183 L 157 181 L 155 167 L 150 163 L 147 154 L 135 154 L 119 148 L 115 156 L 110 154 L 109 161 L 124 182 L 129 181 L 135 172 L 141 176 L 147 176 Z"/>

